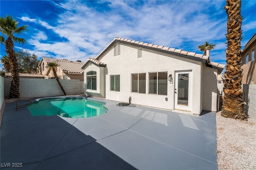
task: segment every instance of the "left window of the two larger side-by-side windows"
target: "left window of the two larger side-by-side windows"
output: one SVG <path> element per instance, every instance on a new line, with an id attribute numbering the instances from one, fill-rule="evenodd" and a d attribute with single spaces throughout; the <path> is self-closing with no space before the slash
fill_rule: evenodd
<path id="1" fill-rule="evenodd" d="M 146 73 L 132 74 L 132 92 L 146 93 Z"/>

